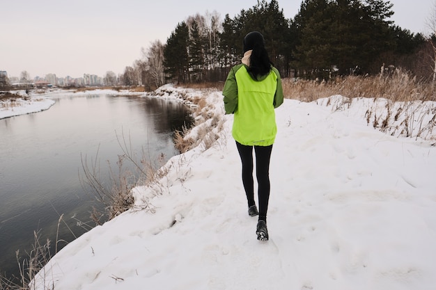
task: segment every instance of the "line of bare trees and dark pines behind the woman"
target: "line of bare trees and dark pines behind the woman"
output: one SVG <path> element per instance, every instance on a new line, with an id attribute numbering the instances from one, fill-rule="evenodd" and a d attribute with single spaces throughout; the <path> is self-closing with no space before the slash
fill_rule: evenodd
<path id="1" fill-rule="evenodd" d="M 157 88 L 167 82 L 224 81 L 240 63 L 242 39 L 260 31 L 270 58 L 283 77 L 327 79 L 346 74 L 378 74 L 402 67 L 421 79 L 433 78 L 435 33 L 411 33 L 389 20 L 393 4 L 383 0 L 304 0 L 286 19 L 277 0 L 259 0 L 224 20 L 206 13 L 176 25 L 166 43 L 142 49 L 126 67 L 125 85 Z"/>

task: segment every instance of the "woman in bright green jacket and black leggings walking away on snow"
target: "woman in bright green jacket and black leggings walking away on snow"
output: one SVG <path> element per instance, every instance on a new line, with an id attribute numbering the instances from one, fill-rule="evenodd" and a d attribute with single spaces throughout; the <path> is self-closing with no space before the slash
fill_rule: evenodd
<path id="1" fill-rule="evenodd" d="M 247 195 L 248 213 L 258 215 L 258 240 L 267 241 L 270 157 L 277 134 L 274 108 L 283 104 L 283 90 L 279 71 L 265 49 L 263 35 L 258 31 L 248 33 L 243 44 L 242 63 L 232 67 L 222 93 L 226 113 L 235 114 L 232 136 L 242 162 L 242 184 Z M 253 148 L 259 210 L 254 200 Z"/>

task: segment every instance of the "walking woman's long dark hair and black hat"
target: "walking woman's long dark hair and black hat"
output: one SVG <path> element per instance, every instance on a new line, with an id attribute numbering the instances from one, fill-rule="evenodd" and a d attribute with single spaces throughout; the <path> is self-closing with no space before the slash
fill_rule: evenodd
<path id="1" fill-rule="evenodd" d="M 272 62 L 265 49 L 265 40 L 263 35 L 258 31 L 252 31 L 245 35 L 244 52 L 253 50 L 250 56 L 250 66 L 248 72 L 257 79 L 257 76 L 263 76 L 270 72 Z"/>

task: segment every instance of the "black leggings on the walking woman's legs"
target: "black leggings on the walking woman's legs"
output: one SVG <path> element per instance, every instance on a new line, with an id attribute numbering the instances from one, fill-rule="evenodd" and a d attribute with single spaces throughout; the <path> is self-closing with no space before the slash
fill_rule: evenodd
<path id="1" fill-rule="evenodd" d="M 258 181 L 259 220 L 267 219 L 270 200 L 270 146 L 247 146 L 236 142 L 242 161 L 242 184 L 247 195 L 248 206 L 254 205 L 253 147 L 256 154 L 256 177 Z"/>

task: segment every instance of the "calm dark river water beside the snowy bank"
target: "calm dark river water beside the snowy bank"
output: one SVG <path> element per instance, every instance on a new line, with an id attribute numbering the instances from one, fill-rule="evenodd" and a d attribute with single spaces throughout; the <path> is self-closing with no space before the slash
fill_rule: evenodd
<path id="1" fill-rule="evenodd" d="M 118 140 L 126 141 L 135 158 L 145 152 L 152 163 L 161 154 L 166 161 L 178 154 L 173 132 L 192 124 L 188 109 L 172 100 L 109 95 L 54 100 L 47 111 L 0 120 L 0 271 L 7 276 L 17 275 L 15 252 L 27 257 L 34 231 L 42 242 L 56 240 L 59 215 L 71 230 L 61 223 L 58 240 L 65 242 L 58 250 L 86 232 L 77 221 L 91 221 L 92 207 L 102 204 L 80 182 L 82 160 L 98 160 L 100 177 L 110 186 L 108 164 L 117 172 L 123 154 Z M 123 168 L 135 171 L 131 163 Z"/>

